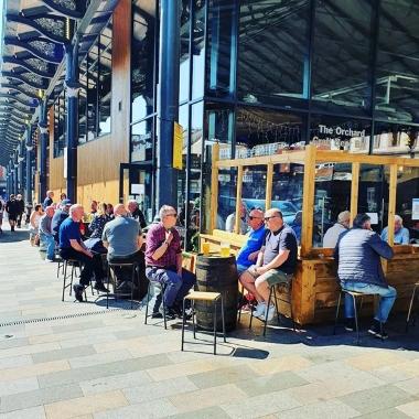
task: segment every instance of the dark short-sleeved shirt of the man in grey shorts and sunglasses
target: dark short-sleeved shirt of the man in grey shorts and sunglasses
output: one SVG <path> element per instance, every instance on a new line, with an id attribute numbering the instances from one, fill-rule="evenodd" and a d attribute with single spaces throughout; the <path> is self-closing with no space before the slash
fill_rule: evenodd
<path id="1" fill-rule="evenodd" d="M 271 262 L 280 250 L 289 250 L 288 259 L 277 269 L 293 273 L 297 266 L 298 245 L 291 227 L 283 225 L 278 232 L 269 232 L 265 239 L 264 266 Z"/>

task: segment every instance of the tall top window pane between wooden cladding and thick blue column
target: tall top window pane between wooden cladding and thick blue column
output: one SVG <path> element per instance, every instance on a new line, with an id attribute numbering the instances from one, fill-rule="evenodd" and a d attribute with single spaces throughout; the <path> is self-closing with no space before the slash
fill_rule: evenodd
<path id="1" fill-rule="evenodd" d="M 132 2 L 131 121 L 154 111 L 155 0 Z"/>

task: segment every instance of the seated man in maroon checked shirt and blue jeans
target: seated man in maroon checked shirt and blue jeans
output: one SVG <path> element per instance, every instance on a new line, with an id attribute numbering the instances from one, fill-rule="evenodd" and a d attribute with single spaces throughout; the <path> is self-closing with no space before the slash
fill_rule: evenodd
<path id="1" fill-rule="evenodd" d="M 182 268 L 181 237 L 174 228 L 176 210 L 163 205 L 160 223 L 150 227 L 146 238 L 146 276 L 150 281 L 165 286 L 164 303 L 168 318 L 182 313 L 183 298 L 194 286 L 195 276 Z M 154 305 L 153 314 L 158 308 Z"/>

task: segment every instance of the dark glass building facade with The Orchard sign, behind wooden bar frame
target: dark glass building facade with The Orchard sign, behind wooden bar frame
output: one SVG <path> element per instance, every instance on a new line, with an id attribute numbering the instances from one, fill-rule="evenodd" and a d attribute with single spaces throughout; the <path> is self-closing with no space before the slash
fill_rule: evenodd
<path id="1" fill-rule="evenodd" d="M 159 10 L 154 0 L 133 4 L 131 161 L 153 161 Z M 184 170 L 178 172 L 178 206 L 184 227 L 192 229 L 187 240 L 194 228 L 208 228 L 214 142 L 221 144 L 222 159 L 277 153 L 308 143 L 358 153 L 417 151 L 419 4 L 415 0 L 182 0 L 181 4 L 179 122 Z M 300 175 L 299 168 L 278 170 L 279 201 L 301 193 Z M 386 178 L 384 172 L 377 176 Z M 235 173 L 221 174 L 218 183 L 223 228 L 235 208 Z M 265 191 L 262 184 L 264 173 L 257 168 L 246 174 L 247 206 L 264 201 L 258 193 Z M 322 191 L 319 196 L 331 197 L 332 192 Z M 330 218 L 347 203 L 341 200 L 335 206 Z M 299 210 L 297 197 L 290 212 Z"/>

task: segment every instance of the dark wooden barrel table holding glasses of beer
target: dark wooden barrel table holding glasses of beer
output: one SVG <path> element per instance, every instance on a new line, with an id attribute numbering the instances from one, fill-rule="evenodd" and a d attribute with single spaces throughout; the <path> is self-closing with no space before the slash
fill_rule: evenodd
<path id="1" fill-rule="evenodd" d="M 236 258 L 229 256 L 198 255 L 196 260 L 196 283 L 198 291 L 221 292 L 224 300 L 226 331 L 236 329 L 238 275 Z M 200 329 L 214 330 L 214 304 L 195 302 L 196 324 Z M 221 304 L 217 305 L 217 330 L 223 330 Z"/>

